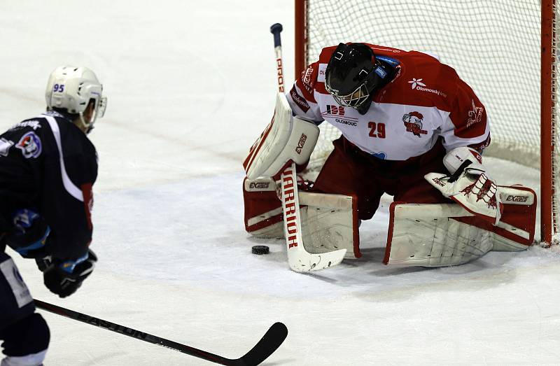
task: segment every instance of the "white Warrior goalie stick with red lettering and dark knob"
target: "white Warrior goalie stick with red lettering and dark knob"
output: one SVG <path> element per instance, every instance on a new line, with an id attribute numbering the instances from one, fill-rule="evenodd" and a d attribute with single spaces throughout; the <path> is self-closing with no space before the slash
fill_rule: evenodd
<path id="1" fill-rule="evenodd" d="M 276 66 L 278 69 L 278 87 L 283 92 L 282 44 L 280 32 L 282 25 L 272 24 L 270 32 L 274 34 L 274 51 L 276 52 Z M 300 217 L 300 198 L 297 194 L 297 176 L 295 162 L 291 162 L 280 176 L 282 185 L 282 213 L 286 249 L 288 251 L 288 265 L 295 272 L 309 272 L 338 265 L 346 255 L 346 249 L 328 253 L 309 253 L 303 246 L 302 224 Z"/>

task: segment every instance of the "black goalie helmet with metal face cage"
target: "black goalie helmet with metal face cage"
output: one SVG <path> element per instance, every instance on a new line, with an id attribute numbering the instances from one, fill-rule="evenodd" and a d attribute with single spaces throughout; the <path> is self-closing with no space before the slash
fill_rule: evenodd
<path id="1" fill-rule="evenodd" d="M 372 92 L 391 80 L 393 73 L 388 69 L 377 61 L 368 45 L 340 43 L 327 64 L 325 88 L 341 106 L 365 114 Z"/>

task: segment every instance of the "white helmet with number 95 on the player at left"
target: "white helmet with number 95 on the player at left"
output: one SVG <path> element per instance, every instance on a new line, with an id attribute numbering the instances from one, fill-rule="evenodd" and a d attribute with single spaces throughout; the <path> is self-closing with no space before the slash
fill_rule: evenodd
<path id="1" fill-rule="evenodd" d="M 58 66 L 50 73 L 45 99 L 48 110 L 63 108 L 68 113 L 80 115 L 83 126 L 78 125 L 84 132 L 90 132 L 97 117 L 102 118 L 107 106 L 107 98 L 102 97 L 103 85 L 97 76 L 87 67 Z M 94 109 L 90 118 L 85 120 L 83 112 L 90 101 L 94 101 Z"/>

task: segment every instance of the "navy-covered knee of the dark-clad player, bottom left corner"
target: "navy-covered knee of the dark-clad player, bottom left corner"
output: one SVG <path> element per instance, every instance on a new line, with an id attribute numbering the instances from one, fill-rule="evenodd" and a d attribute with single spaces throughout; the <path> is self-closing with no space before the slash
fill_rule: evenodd
<path id="1" fill-rule="evenodd" d="M 31 314 L 0 331 L 3 353 L 1 366 L 42 365 L 50 341 L 48 325 L 40 314 Z"/>

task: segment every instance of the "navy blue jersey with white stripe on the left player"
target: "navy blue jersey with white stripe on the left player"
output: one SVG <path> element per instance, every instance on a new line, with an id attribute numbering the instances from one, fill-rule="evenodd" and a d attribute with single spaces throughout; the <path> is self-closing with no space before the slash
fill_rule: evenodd
<path id="1" fill-rule="evenodd" d="M 49 225 L 48 253 L 76 260 L 92 239 L 92 185 L 97 153 L 90 139 L 55 111 L 24 120 L 0 135 L 0 232 L 13 230 L 20 209 Z"/>

